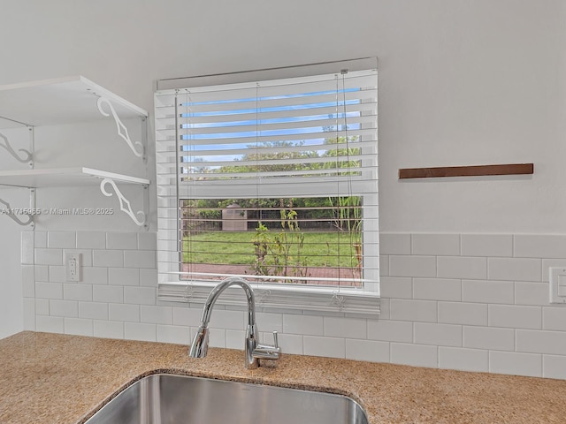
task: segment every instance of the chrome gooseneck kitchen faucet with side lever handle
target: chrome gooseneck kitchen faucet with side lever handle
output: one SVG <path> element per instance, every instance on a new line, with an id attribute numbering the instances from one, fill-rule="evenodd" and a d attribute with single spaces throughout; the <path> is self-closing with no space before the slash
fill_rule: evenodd
<path id="1" fill-rule="evenodd" d="M 190 351 L 191 358 L 204 358 L 209 347 L 209 322 L 212 307 L 216 303 L 218 296 L 231 285 L 239 285 L 246 292 L 248 299 L 248 325 L 246 327 L 246 341 L 244 345 L 244 356 L 246 368 L 253 369 L 259 367 L 259 360 L 279 360 L 281 357 L 281 348 L 277 341 L 277 331 L 273 331 L 274 345 L 260 345 L 259 332 L 256 326 L 256 300 L 251 285 L 239 276 L 226 278 L 219 283 L 209 297 L 206 299 L 203 307 L 203 316 L 201 317 L 201 326 L 198 328 L 193 339 Z"/>

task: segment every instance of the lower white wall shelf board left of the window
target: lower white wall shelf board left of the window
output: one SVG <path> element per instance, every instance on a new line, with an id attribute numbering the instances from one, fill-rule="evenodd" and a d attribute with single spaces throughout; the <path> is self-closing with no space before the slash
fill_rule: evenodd
<path id="1" fill-rule="evenodd" d="M 65 187 L 96 186 L 103 178 L 110 178 L 117 184 L 149 185 L 149 179 L 93 170 L 91 168 L 57 168 L 44 170 L 2 170 L 0 186 L 15 187 Z"/>

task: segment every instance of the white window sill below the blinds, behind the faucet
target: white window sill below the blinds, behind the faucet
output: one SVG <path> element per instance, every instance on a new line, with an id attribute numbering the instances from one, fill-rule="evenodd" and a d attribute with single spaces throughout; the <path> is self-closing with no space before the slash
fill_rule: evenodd
<path id="1" fill-rule="evenodd" d="M 209 282 L 160 283 L 157 299 L 166 302 L 203 304 L 216 284 Z M 277 284 L 251 284 L 256 294 L 256 309 L 290 314 L 339 314 L 377 318 L 379 292 L 331 287 L 289 287 Z M 218 305 L 245 307 L 244 292 L 230 287 L 217 300 Z"/>

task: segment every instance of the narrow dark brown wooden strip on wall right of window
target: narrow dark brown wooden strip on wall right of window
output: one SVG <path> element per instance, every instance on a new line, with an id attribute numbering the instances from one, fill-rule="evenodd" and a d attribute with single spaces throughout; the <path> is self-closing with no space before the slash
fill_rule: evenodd
<path id="1" fill-rule="evenodd" d="M 443 166 L 437 168 L 404 168 L 399 179 L 480 177 L 486 175 L 523 175 L 534 173 L 533 163 L 506 163 L 498 165 Z"/>

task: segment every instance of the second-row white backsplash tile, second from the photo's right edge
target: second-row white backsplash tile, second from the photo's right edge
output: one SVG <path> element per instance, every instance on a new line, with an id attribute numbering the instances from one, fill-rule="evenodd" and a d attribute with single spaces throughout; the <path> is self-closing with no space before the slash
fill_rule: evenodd
<path id="1" fill-rule="evenodd" d="M 490 280 L 541 281 L 542 263 L 539 259 L 488 258 Z"/>

